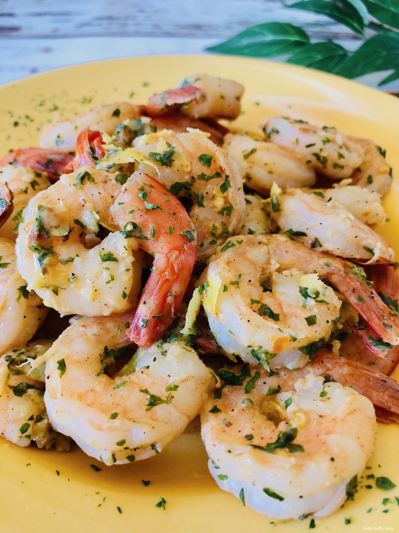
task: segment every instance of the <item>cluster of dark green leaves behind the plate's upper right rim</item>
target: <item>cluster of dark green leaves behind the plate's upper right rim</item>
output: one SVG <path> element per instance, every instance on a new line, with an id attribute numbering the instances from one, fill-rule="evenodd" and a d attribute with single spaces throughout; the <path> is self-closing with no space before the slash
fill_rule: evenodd
<path id="1" fill-rule="evenodd" d="M 355 34 L 359 46 L 346 50 L 333 41 L 311 42 L 306 32 L 285 22 L 252 26 L 208 50 L 257 58 L 286 56 L 298 64 L 346 78 L 388 72 L 379 85 L 399 79 L 398 0 L 300 0 L 287 9 L 329 17 Z"/>

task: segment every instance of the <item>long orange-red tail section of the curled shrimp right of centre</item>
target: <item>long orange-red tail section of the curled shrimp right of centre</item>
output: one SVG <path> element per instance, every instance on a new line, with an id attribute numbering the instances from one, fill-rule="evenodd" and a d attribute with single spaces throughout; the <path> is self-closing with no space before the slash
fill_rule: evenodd
<path id="1" fill-rule="evenodd" d="M 353 306 L 377 338 L 392 345 L 399 344 L 399 320 L 376 290 L 371 287 L 360 266 L 340 257 L 316 252 L 285 235 L 268 235 L 268 249 L 279 264 L 278 271 L 301 267 L 305 273 L 317 272 Z M 367 342 L 366 340 L 364 340 Z"/>

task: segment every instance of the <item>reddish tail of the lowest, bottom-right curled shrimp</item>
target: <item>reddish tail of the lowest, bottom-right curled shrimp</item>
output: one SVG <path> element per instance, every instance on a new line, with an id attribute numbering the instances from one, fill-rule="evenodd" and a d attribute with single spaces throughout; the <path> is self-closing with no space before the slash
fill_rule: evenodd
<path id="1" fill-rule="evenodd" d="M 399 421 L 399 383 L 395 379 L 325 349 L 319 350 L 307 367 L 312 368 L 312 372 L 317 369 L 317 374 L 328 374 L 363 394 L 377 408 L 381 422 Z"/>

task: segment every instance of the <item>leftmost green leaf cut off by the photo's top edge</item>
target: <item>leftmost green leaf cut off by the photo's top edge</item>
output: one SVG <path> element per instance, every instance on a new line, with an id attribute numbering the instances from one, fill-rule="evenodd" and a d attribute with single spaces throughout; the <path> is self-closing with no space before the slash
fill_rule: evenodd
<path id="1" fill-rule="evenodd" d="M 288 7 L 326 15 L 326 17 L 343 24 L 355 33 L 363 35 L 363 18 L 358 10 L 355 9 L 351 3 L 345 2 L 345 0 L 342 0 L 339 3 L 331 2 L 331 0 L 302 0 L 301 2 L 296 2 Z"/>

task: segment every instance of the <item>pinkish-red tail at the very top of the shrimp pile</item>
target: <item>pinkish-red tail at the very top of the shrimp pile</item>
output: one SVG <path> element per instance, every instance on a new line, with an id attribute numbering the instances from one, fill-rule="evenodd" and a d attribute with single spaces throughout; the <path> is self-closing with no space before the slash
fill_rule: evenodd
<path id="1" fill-rule="evenodd" d="M 145 114 L 149 117 L 157 117 L 173 109 L 176 110 L 187 103 L 199 102 L 205 96 L 205 91 L 194 85 L 163 91 L 149 98 Z"/>

